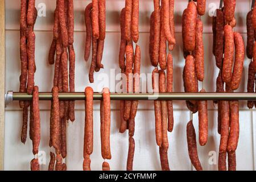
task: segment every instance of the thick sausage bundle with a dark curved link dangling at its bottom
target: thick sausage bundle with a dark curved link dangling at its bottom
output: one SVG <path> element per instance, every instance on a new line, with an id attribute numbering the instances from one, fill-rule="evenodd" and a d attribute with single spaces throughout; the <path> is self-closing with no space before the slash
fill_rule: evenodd
<path id="1" fill-rule="evenodd" d="M 183 70 L 183 82 L 185 92 L 199 92 L 198 81 L 204 81 L 204 44 L 203 22 L 201 15 L 205 14 L 205 0 L 190 1 L 182 15 L 182 37 L 185 66 Z M 201 89 L 200 93 L 205 90 Z M 207 101 L 186 101 L 187 107 L 192 113 L 198 111 L 199 115 L 199 143 L 204 146 L 208 139 L 208 111 Z M 196 133 L 193 121 L 187 125 L 188 153 L 191 163 L 196 170 L 202 170 L 197 155 Z"/>

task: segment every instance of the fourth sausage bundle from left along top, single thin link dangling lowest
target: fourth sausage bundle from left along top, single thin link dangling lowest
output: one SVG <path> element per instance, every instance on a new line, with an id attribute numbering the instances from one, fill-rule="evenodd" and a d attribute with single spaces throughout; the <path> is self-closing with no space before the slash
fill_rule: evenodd
<path id="1" fill-rule="evenodd" d="M 125 8 L 120 15 L 121 42 L 119 50 L 119 67 L 122 73 L 122 92 L 140 92 L 141 48 L 136 44 L 139 40 L 139 1 L 126 0 Z M 135 53 L 133 43 L 136 44 Z M 126 86 L 125 86 L 126 85 Z M 135 117 L 138 100 L 120 101 L 120 133 L 129 130 L 129 151 L 127 156 L 127 171 L 133 170 L 135 150 Z"/>

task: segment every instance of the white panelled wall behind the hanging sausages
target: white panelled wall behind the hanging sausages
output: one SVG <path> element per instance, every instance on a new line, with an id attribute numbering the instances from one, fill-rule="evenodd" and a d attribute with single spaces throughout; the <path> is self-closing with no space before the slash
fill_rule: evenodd
<path id="1" fill-rule="evenodd" d="M 19 89 L 19 1 L 8 0 L 6 3 L 6 92 L 7 90 L 18 91 Z M 85 25 L 84 8 L 90 1 L 74 0 L 75 2 L 75 51 L 76 51 L 76 91 L 83 92 L 85 86 L 92 86 L 95 91 L 101 91 L 98 88 L 97 76 L 96 82 L 89 84 L 88 69 L 89 64 L 83 59 L 85 44 Z M 184 67 L 184 58 L 181 41 L 181 14 L 187 6 L 185 0 L 175 1 L 175 28 L 177 46 L 174 49 L 174 92 L 183 92 L 183 81 L 181 72 Z M 37 0 L 39 3 L 46 4 L 46 17 L 38 17 L 35 25 L 36 34 L 36 66 L 35 84 L 39 85 L 41 92 L 50 91 L 53 85 L 53 67 L 47 63 L 49 46 L 52 41 L 53 11 L 55 10 L 55 1 Z M 218 7 L 219 1 L 207 1 L 207 13 L 203 16 L 204 22 L 204 46 L 205 46 L 205 81 L 203 84 L 207 92 L 214 92 L 215 80 L 218 75 L 218 69 L 215 66 L 215 60 L 212 55 L 212 18 L 208 12 L 212 7 Z M 246 14 L 250 9 L 251 1 L 239 0 L 236 7 L 237 27 L 236 31 L 241 32 L 246 40 Z M 119 73 L 118 51 L 119 51 L 119 13 L 125 6 L 125 0 L 107 0 L 106 1 L 106 40 L 103 63 L 105 69 L 100 73 L 110 75 L 110 68 L 116 69 Z M 149 19 L 153 10 L 152 0 L 141 0 L 140 2 L 140 34 L 139 46 L 142 50 L 142 73 L 151 73 L 152 67 L 148 56 L 149 39 Z M 245 41 L 246 42 L 246 41 Z M 246 58 L 243 78 L 240 89 L 237 92 L 246 92 L 247 67 L 250 60 Z M 112 90 L 114 91 L 114 90 Z M 199 157 L 203 168 L 206 170 L 216 170 L 217 164 L 209 164 L 209 152 L 218 153 L 218 144 L 220 136 L 217 134 L 217 111 L 212 102 L 209 106 L 209 138 L 206 146 L 198 146 Z M 91 156 L 92 169 L 101 170 L 103 160 L 100 155 L 100 111 L 99 102 L 94 104 L 94 151 Z M 40 150 L 45 151 L 46 165 L 41 169 L 48 169 L 49 151 L 49 102 L 40 102 L 42 140 Z M 240 102 L 240 139 L 237 148 L 237 169 L 254 170 L 255 169 L 255 139 L 256 110 L 249 110 L 246 102 Z M 186 125 L 189 119 L 193 117 L 194 125 L 197 131 L 197 114 L 191 116 L 184 101 L 174 101 L 174 131 L 168 134 L 170 141 L 169 161 L 172 170 L 192 170 L 188 157 Z M 135 119 L 135 156 L 134 169 L 136 170 L 160 170 L 159 152 L 155 142 L 154 131 L 154 107 L 152 101 L 139 102 L 138 114 Z M 5 170 L 28 170 L 30 169 L 30 160 L 32 155 L 32 144 L 28 139 L 26 145 L 20 142 L 20 128 L 22 126 L 22 111 L 19 109 L 18 102 L 13 102 L 6 108 L 5 112 Z M 112 170 L 125 170 L 128 150 L 128 134 L 119 134 L 119 111 L 118 102 L 112 102 L 112 131 L 111 147 L 113 159 L 109 161 Z M 84 135 L 84 102 L 76 102 L 76 121 L 68 124 L 68 157 L 67 164 L 69 170 L 82 169 L 82 146 Z M 198 135 L 198 134 L 197 134 Z M 51 149 L 52 150 L 52 149 Z"/>

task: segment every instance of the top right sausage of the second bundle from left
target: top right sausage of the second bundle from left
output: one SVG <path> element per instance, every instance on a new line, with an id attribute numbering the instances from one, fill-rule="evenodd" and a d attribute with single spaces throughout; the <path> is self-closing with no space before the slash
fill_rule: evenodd
<path id="1" fill-rule="evenodd" d="M 74 43 L 74 3 L 68 0 L 68 44 Z"/>

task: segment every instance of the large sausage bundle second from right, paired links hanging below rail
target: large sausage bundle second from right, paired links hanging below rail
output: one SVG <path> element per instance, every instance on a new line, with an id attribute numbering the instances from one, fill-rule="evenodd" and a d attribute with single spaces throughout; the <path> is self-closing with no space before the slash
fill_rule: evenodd
<path id="1" fill-rule="evenodd" d="M 216 92 L 234 92 L 238 89 L 242 78 L 245 46 L 242 36 L 238 32 L 233 32 L 236 26 L 235 9 L 236 1 L 226 0 L 224 7 L 217 9 L 217 16 L 213 19 L 213 53 L 216 57 L 216 65 L 220 68 L 216 80 Z M 228 169 L 233 171 L 236 170 L 236 148 L 239 137 L 239 103 L 238 101 L 218 101 L 217 103 L 218 133 L 221 135 L 218 169 L 226 171 L 226 154 L 228 153 Z"/>

